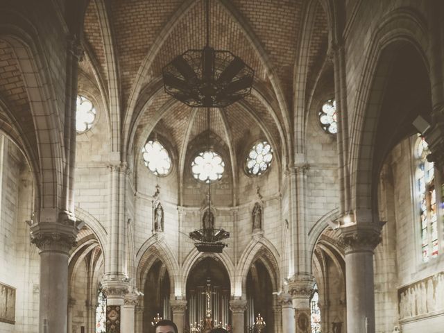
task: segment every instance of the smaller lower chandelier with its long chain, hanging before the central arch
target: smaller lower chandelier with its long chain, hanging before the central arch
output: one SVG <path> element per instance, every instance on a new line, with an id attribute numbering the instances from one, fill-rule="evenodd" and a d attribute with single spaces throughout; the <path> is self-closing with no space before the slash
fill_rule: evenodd
<path id="1" fill-rule="evenodd" d="M 210 150 L 210 108 L 207 108 L 207 149 Z M 207 219 L 210 223 L 203 223 L 203 228 L 194 230 L 189 233 L 189 238 L 196 241 L 194 244 L 199 252 L 206 253 L 222 253 L 223 248 L 228 244 L 222 243 L 223 239 L 230 237 L 230 232 L 223 230 L 223 228 L 214 228 L 214 216 L 211 211 L 211 181 L 208 181 L 208 207 Z M 205 219 L 205 214 L 204 214 Z M 204 222 L 204 221 L 203 221 Z M 208 227 L 210 225 L 210 227 Z"/>

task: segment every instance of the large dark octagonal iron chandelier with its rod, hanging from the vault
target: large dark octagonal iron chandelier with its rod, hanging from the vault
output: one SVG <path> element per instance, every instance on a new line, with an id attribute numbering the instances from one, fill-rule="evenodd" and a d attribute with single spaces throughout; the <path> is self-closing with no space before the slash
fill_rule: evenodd
<path id="1" fill-rule="evenodd" d="M 210 46 L 210 3 L 205 0 L 206 44 L 189 49 L 162 69 L 164 88 L 192 108 L 225 108 L 250 94 L 254 71 L 230 51 Z"/>

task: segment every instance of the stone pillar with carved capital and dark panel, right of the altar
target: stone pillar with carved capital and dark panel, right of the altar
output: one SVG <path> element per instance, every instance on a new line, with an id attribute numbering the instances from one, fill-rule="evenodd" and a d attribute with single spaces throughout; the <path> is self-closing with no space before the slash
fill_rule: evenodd
<path id="1" fill-rule="evenodd" d="M 305 333 L 310 327 L 310 297 L 313 293 L 313 275 L 294 275 L 289 282 L 289 291 L 295 309 L 296 333 Z"/>

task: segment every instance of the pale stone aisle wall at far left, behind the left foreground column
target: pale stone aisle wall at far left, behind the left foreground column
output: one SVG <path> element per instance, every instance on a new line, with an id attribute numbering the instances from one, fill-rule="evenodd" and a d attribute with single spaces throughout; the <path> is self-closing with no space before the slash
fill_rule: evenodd
<path id="1" fill-rule="evenodd" d="M 16 289 L 15 324 L 0 332 L 37 332 L 40 257 L 26 220 L 33 212 L 31 173 L 18 148 L 0 136 L 0 282 Z"/>

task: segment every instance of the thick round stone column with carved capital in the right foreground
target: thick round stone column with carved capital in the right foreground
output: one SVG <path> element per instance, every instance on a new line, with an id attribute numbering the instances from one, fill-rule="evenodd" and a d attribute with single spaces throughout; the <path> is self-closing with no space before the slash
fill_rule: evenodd
<path id="1" fill-rule="evenodd" d="M 347 332 L 375 333 L 373 250 L 381 239 L 382 223 L 352 223 L 339 228 L 345 248 Z"/>

